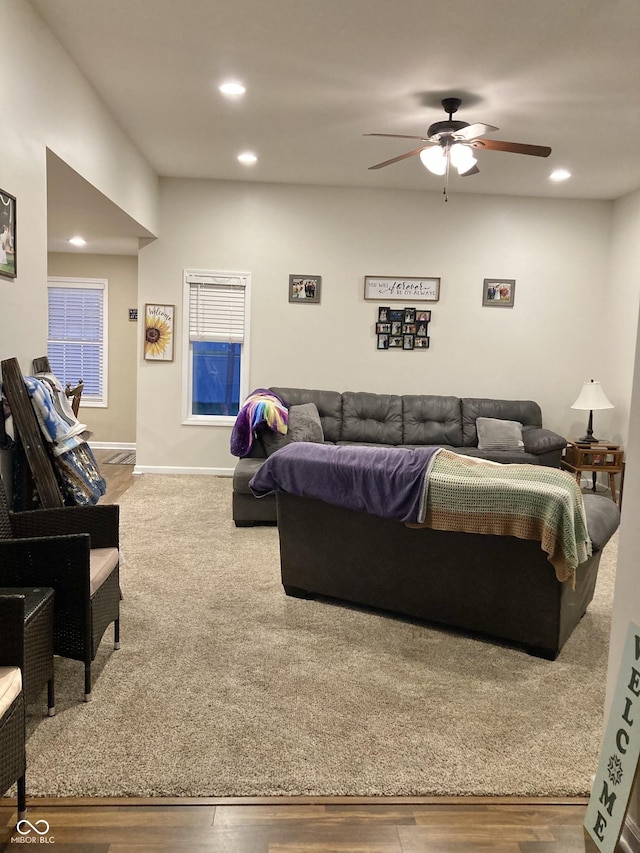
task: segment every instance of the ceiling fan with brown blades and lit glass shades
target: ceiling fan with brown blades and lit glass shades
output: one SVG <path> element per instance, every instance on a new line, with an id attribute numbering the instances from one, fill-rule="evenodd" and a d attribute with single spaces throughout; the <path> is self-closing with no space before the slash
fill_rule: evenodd
<path id="1" fill-rule="evenodd" d="M 437 121 L 427 130 L 426 136 L 405 136 L 399 133 L 365 133 L 364 136 L 387 136 L 394 139 L 419 139 L 425 143 L 413 151 L 392 157 L 370 169 L 382 169 L 391 166 L 407 157 L 420 156 L 423 165 L 435 175 L 449 174 L 449 163 L 452 163 L 458 174 L 467 176 L 475 175 L 480 170 L 477 167 L 477 159 L 473 156 L 474 149 L 487 148 L 493 151 L 510 151 L 513 154 L 530 154 L 533 157 L 548 157 L 551 148 L 547 145 L 527 145 L 522 142 L 503 142 L 499 139 L 481 139 L 487 133 L 492 133 L 499 128 L 491 124 L 469 124 L 466 121 L 454 121 L 453 115 L 458 111 L 462 101 L 460 98 L 443 98 L 441 104 L 449 118 L 446 121 Z M 445 181 L 446 197 L 446 181 Z"/>

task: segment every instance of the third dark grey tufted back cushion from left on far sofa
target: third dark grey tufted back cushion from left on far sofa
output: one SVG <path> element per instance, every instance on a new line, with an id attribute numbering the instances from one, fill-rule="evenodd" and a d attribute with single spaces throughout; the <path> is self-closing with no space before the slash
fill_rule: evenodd
<path id="1" fill-rule="evenodd" d="M 462 444 L 462 416 L 458 397 L 405 394 L 402 397 L 404 444 Z"/>

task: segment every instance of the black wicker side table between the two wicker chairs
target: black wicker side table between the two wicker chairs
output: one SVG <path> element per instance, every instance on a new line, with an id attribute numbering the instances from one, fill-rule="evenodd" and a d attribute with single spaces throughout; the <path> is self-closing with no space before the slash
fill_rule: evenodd
<path id="1" fill-rule="evenodd" d="M 35 702 L 47 685 L 50 717 L 56 712 L 53 675 L 53 590 L 50 587 L 0 587 L 0 599 L 19 595 L 24 599 L 24 631 L 17 647 L 0 643 L 0 666 L 18 660 L 22 670 L 25 702 Z"/>

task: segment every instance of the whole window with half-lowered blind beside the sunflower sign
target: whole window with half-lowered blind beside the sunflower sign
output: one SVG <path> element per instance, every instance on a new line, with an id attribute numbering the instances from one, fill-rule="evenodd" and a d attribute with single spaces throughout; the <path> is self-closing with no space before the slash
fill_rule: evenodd
<path id="1" fill-rule="evenodd" d="M 187 422 L 233 418 L 246 397 L 248 273 L 185 272 Z"/>

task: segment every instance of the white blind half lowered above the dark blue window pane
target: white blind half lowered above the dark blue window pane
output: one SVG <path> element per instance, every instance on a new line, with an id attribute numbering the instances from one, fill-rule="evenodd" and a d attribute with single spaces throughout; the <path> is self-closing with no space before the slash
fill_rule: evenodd
<path id="1" fill-rule="evenodd" d="M 189 340 L 242 343 L 246 281 L 189 276 Z"/>

